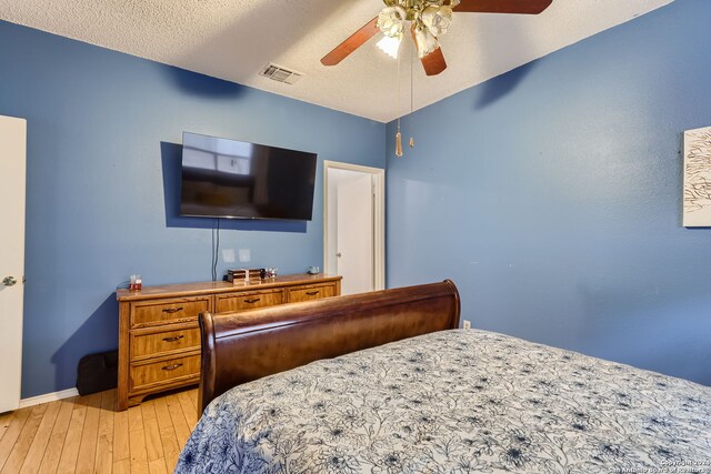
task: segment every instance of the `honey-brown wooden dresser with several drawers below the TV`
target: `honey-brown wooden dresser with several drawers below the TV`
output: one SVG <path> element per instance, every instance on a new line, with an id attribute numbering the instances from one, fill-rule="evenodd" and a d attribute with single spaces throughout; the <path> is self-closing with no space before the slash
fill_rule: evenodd
<path id="1" fill-rule="evenodd" d="M 341 278 L 284 275 L 244 283 L 204 282 L 118 290 L 118 409 L 200 380 L 198 314 L 247 311 L 341 294 Z"/>

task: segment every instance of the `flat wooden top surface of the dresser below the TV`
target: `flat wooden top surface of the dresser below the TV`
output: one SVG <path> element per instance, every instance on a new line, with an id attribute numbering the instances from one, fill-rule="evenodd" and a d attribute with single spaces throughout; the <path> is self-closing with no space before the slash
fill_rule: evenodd
<path id="1" fill-rule="evenodd" d="M 117 290 L 116 299 L 119 301 L 147 300 L 152 297 L 174 297 L 174 296 L 194 296 L 200 294 L 229 293 L 232 291 L 244 290 L 262 290 L 277 286 L 293 286 L 302 284 L 317 284 L 341 280 L 341 276 L 319 273 L 310 275 L 308 273 L 299 273 L 294 275 L 283 275 L 266 280 L 251 280 L 244 282 L 197 282 L 197 283 L 179 283 L 168 285 L 143 286 L 142 290 Z"/>

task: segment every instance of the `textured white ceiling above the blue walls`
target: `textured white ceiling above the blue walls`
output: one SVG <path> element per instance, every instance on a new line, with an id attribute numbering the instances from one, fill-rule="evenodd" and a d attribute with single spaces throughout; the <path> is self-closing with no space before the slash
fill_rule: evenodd
<path id="1" fill-rule="evenodd" d="M 553 0 L 539 16 L 454 13 L 448 69 L 415 63 L 420 109 L 672 0 Z M 0 18 L 166 64 L 388 122 L 410 111 L 411 41 L 397 61 L 371 39 L 336 67 L 321 57 L 377 16 L 381 0 L 0 0 Z M 408 38 L 405 38 L 408 39 Z M 304 74 L 289 85 L 267 63 Z M 399 102 L 399 103 L 398 103 Z"/>

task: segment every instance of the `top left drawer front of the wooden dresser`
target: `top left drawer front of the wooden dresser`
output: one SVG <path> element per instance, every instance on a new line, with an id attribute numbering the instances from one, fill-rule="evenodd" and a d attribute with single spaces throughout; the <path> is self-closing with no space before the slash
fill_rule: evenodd
<path id="1" fill-rule="evenodd" d="M 134 304 L 131 324 L 136 326 L 197 321 L 198 314 L 206 311 L 210 311 L 210 296 L 146 301 Z"/>

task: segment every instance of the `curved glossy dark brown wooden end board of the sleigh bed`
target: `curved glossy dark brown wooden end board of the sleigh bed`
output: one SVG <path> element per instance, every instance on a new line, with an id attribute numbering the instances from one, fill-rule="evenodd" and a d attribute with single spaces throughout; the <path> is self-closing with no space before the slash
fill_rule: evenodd
<path id="1" fill-rule="evenodd" d="M 199 415 L 214 397 L 241 383 L 455 329 L 459 314 L 459 292 L 450 280 L 247 312 L 202 313 Z"/>

